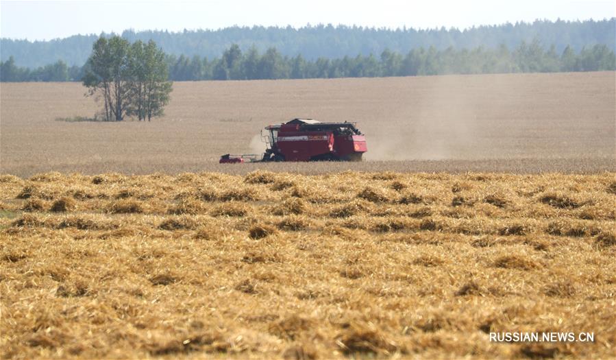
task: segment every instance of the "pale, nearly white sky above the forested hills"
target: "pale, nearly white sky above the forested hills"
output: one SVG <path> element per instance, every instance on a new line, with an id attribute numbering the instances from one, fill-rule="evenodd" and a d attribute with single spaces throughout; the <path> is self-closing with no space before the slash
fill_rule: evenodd
<path id="1" fill-rule="evenodd" d="M 50 40 L 125 29 L 181 32 L 233 25 L 457 27 L 610 19 L 616 0 L 0 1 L 0 37 Z"/>

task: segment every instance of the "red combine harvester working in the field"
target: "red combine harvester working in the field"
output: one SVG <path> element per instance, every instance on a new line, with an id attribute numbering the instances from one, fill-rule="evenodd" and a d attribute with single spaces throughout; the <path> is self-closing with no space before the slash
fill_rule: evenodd
<path id="1" fill-rule="evenodd" d="M 312 119 L 293 119 L 269 125 L 261 139 L 265 153 L 221 156 L 219 163 L 257 163 L 265 161 L 361 161 L 368 151 L 365 136 L 355 123 L 321 123 Z"/>

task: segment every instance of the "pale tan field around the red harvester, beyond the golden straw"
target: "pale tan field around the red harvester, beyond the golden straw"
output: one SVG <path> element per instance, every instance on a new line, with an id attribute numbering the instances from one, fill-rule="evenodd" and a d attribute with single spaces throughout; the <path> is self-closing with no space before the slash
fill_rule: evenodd
<path id="1" fill-rule="evenodd" d="M 177 82 L 151 123 L 55 121 L 97 104 L 80 84 L 2 83 L 0 172 L 615 171 L 615 74 Z M 217 164 L 260 152 L 260 129 L 293 117 L 357 121 L 367 161 Z"/>

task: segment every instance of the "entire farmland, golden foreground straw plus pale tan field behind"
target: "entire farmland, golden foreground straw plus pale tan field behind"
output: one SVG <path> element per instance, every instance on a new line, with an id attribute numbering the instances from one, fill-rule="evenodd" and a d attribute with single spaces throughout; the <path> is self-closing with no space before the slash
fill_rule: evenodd
<path id="1" fill-rule="evenodd" d="M 616 357 L 615 75 L 2 83 L 1 357 Z M 365 161 L 217 163 L 294 117 Z"/>

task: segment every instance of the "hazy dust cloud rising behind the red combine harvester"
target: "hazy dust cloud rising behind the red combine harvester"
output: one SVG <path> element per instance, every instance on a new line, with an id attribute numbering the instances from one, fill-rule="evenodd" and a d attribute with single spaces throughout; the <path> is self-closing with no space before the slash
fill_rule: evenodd
<path id="1" fill-rule="evenodd" d="M 484 155 L 473 151 L 473 144 L 481 137 L 480 104 L 460 91 L 465 87 L 460 77 L 433 80 L 419 97 L 404 101 L 407 106 L 388 109 L 380 119 L 381 126 L 365 130 L 366 160 L 444 160 Z"/>

